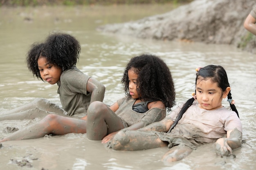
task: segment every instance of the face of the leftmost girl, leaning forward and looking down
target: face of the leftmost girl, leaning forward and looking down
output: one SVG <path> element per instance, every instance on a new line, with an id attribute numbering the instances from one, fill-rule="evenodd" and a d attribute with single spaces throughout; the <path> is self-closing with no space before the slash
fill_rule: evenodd
<path id="1" fill-rule="evenodd" d="M 61 78 L 62 69 L 49 63 L 45 57 L 39 57 L 37 60 L 40 75 L 49 84 L 55 84 Z"/>

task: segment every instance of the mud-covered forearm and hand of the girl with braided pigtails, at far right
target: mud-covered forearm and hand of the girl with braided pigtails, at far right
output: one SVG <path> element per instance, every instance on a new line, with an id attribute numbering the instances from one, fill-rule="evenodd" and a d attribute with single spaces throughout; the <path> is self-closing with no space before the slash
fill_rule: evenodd
<path id="1" fill-rule="evenodd" d="M 227 131 L 227 137 L 219 138 L 215 142 L 217 155 L 228 156 L 234 149 L 242 146 L 242 132 L 237 129 Z"/>

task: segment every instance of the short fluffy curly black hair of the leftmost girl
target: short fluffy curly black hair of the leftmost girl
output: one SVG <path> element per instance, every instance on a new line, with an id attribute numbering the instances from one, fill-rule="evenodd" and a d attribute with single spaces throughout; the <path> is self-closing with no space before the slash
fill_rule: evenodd
<path id="1" fill-rule="evenodd" d="M 34 76 L 43 80 L 37 64 L 39 57 L 45 57 L 49 63 L 55 64 L 62 68 L 62 71 L 65 71 L 76 65 L 80 51 L 80 43 L 72 35 L 52 33 L 45 42 L 31 45 L 26 58 L 27 67 Z"/>

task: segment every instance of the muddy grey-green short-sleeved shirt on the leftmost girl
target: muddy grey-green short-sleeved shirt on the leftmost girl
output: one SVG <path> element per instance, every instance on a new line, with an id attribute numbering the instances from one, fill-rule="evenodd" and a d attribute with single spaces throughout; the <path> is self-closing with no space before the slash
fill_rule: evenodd
<path id="1" fill-rule="evenodd" d="M 90 104 L 91 93 L 88 93 L 86 86 L 90 76 L 82 73 L 76 67 L 63 71 L 58 84 L 57 93 L 60 95 L 62 108 L 67 115 L 79 113 L 87 114 Z"/>

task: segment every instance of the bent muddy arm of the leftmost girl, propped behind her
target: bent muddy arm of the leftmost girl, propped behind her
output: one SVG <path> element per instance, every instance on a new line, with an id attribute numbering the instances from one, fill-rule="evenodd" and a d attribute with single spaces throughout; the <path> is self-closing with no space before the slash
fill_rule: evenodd
<path id="1" fill-rule="evenodd" d="M 94 101 L 102 102 L 105 95 L 105 86 L 96 79 L 90 77 L 87 82 L 87 91 L 92 93 L 90 103 Z"/>

